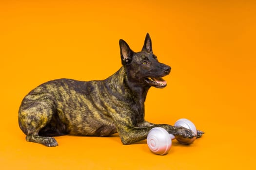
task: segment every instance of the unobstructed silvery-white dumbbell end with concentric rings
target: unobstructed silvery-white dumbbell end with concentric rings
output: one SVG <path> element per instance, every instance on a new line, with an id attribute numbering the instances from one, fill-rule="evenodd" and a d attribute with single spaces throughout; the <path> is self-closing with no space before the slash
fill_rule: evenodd
<path id="1" fill-rule="evenodd" d="M 153 128 L 147 136 L 149 149 L 156 154 L 167 154 L 172 146 L 172 140 L 169 133 L 161 127 Z"/>

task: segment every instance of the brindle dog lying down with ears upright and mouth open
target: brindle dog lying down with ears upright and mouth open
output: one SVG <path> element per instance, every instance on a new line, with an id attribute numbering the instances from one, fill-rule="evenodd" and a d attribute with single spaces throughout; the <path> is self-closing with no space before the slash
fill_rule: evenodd
<path id="1" fill-rule="evenodd" d="M 197 135 L 183 127 L 154 124 L 144 119 L 144 102 L 150 87 L 164 88 L 162 78 L 171 67 L 158 62 L 146 34 L 143 48 L 134 52 L 119 40 L 122 67 L 105 80 L 57 79 L 39 85 L 20 104 L 19 126 L 26 140 L 47 147 L 58 145 L 53 136 L 111 136 L 118 133 L 124 145 L 146 139 L 154 127 L 176 137 Z"/>

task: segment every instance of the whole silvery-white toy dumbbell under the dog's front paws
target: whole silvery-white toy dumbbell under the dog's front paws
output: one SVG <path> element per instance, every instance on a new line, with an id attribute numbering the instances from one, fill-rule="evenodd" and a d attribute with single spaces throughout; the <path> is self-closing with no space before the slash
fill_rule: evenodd
<path id="1" fill-rule="evenodd" d="M 197 129 L 194 123 L 189 119 L 178 119 L 174 126 L 180 126 L 187 129 L 192 130 L 197 136 Z M 152 128 L 147 136 L 147 144 L 149 149 L 159 155 L 164 155 L 169 152 L 172 146 L 172 140 L 175 139 L 175 136 L 169 134 L 164 128 L 156 127 Z M 176 138 L 179 143 L 182 144 L 192 144 L 196 137 L 193 138 L 183 138 L 177 137 Z"/>

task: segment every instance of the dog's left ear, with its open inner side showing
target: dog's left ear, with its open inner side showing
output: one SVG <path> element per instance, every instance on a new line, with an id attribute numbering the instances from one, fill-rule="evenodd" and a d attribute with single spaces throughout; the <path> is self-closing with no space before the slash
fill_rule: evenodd
<path id="1" fill-rule="evenodd" d="M 122 39 L 119 40 L 119 46 L 122 64 L 124 65 L 131 63 L 134 51 L 132 51 L 128 44 Z"/>

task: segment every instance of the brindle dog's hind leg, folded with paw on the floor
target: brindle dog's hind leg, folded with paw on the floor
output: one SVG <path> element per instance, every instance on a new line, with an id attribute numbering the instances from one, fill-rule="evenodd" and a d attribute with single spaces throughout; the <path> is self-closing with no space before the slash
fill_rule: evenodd
<path id="1" fill-rule="evenodd" d="M 19 125 L 26 140 L 36 142 L 47 147 L 57 146 L 53 137 L 39 136 L 39 131 L 50 122 L 56 106 L 49 94 L 28 95 L 21 103 L 19 110 Z"/>

